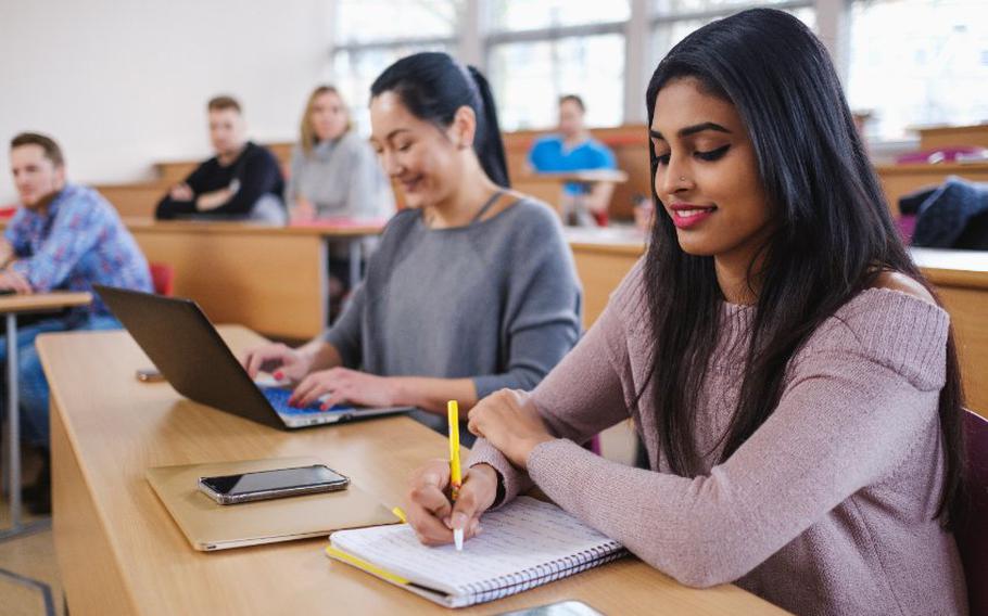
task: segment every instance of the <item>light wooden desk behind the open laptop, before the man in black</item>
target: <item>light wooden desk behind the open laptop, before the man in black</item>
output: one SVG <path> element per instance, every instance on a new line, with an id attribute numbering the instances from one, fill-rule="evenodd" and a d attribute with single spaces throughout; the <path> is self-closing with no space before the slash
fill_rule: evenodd
<path id="1" fill-rule="evenodd" d="M 380 226 L 125 222 L 149 261 L 175 268 L 175 294 L 198 301 L 211 320 L 294 339 L 326 326 L 328 243 L 350 242 L 359 255 L 359 240 L 381 231 Z"/>

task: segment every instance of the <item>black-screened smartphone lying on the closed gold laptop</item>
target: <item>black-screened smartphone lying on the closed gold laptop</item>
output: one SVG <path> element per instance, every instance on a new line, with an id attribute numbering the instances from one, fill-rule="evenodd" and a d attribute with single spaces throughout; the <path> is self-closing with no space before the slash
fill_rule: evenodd
<path id="1" fill-rule="evenodd" d="M 350 477 L 325 464 L 199 478 L 200 491 L 219 504 L 332 492 L 349 485 Z"/>

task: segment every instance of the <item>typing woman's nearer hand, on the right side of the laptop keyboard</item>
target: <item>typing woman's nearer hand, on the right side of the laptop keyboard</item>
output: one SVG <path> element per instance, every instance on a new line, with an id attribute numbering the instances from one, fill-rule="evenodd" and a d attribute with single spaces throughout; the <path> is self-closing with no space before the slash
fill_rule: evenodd
<path id="1" fill-rule="evenodd" d="M 347 368 L 330 368 L 313 372 L 303 378 L 288 402 L 304 408 L 327 396 L 322 400 L 322 410 L 343 402 L 363 407 L 394 407 L 395 389 L 394 380 L 387 376 Z"/>

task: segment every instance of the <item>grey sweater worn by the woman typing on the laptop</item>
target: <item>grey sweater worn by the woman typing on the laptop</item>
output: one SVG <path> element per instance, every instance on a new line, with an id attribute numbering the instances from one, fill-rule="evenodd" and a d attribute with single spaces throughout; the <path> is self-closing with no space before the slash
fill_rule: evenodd
<path id="1" fill-rule="evenodd" d="M 579 339 L 580 311 L 572 254 L 545 204 L 521 200 L 452 229 L 430 229 L 406 209 L 325 339 L 349 368 L 471 377 L 483 397 L 537 385 Z M 433 418 L 442 429 L 445 418 Z"/>

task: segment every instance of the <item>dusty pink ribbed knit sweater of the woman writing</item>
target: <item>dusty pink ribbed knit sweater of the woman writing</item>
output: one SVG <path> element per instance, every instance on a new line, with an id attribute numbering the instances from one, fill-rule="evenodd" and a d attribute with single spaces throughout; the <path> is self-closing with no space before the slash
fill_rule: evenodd
<path id="1" fill-rule="evenodd" d="M 737 401 L 753 310 L 725 304 L 696 413 L 699 451 Z M 793 359 L 778 407 L 729 460 L 670 473 L 651 390 L 639 262 L 599 320 L 533 393 L 557 440 L 528 476 L 480 439 L 470 465 L 501 472 L 506 499 L 534 482 L 549 498 L 651 566 L 694 587 L 735 582 L 797 614 L 966 614 L 953 536 L 933 519 L 943 455 L 937 416 L 949 319 L 873 288 L 825 322 Z M 653 471 L 577 442 L 632 418 Z"/>

